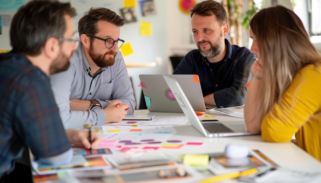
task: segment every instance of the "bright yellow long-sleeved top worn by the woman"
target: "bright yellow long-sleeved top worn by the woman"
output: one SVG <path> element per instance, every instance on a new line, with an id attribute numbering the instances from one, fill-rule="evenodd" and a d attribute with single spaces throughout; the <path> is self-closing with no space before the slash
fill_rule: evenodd
<path id="1" fill-rule="evenodd" d="M 297 145 L 321 161 L 321 67 L 302 68 L 282 96 L 263 118 L 262 138 L 289 142 L 295 133 Z"/>

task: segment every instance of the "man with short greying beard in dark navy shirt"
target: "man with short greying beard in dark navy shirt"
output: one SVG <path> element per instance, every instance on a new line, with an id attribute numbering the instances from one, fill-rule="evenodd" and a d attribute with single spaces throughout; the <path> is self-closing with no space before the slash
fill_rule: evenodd
<path id="1" fill-rule="evenodd" d="M 198 75 L 206 105 L 244 105 L 249 68 L 256 58 L 225 39 L 229 25 L 224 6 L 212 0 L 198 3 L 191 22 L 198 50 L 190 51 L 173 74 Z"/>

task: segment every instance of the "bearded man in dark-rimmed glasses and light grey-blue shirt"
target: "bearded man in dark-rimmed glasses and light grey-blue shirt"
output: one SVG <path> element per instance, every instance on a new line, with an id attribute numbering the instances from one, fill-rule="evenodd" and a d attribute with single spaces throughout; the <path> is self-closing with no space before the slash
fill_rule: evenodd
<path id="1" fill-rule="evenodd" d="M 107 8 L 91 8 L 78 21 L 81 43 L 66 72 L 51 76 L 65 129 L 120 122 L 136 106 L 119 38 L 122 19 Z"/>

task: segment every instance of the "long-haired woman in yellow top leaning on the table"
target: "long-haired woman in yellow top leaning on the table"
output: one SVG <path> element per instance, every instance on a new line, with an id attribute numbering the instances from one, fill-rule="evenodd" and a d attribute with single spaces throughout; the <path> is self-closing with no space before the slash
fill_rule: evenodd
<path id="1" fill-rule="evenodd" d="M 291 10 L 262 9 L 250 21 L 251 66 L 245 121 L 266 142 L 290 142 L 321 161 L 321 55 Z"/>

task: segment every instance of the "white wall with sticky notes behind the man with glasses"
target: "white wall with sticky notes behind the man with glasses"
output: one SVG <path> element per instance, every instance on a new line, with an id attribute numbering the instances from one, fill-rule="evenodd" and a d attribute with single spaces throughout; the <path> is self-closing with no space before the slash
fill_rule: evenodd
<path id="1" fill-rule="evenodd" d="M 1 3 L 10 3 L 11 0 L 3 0 Z M 16 0 L 16 2 L 29 2 L 30 0 Z M 123 8 L 124 1 L 115 0 L 61 0 L 61 2 L 70 2 L 77 10 L 77 16 L 74 18 L 75 29 L 77 30 L 77 22 L 79 18 L 83 16 L 85 11 L 88 11 L 90 7 L 105 7 L 115 11 L 118 15 L 121 15 L 120 8 Z M 141 87 L 139 84 L 139 74 L 168 74 L 168 42 L 167 42 L 167 9 L 168 4 L 171 1 L 154 0 L 156 7 L 156 14 L 150 16 L 142 16 L 141 8 L 139 7 L 139 1 L 135 1 L 136 6 L 134 12 L 136 15 L 136 22 L 125 24 L 121 28 L 121 35 L 119 38 L 130 42 L 134 53 L 124 57 L 126 63 L 149 63 L 157 60 L 161 62 L 160 65 L 155 67 L 130 67 L 128 68 L 129 76 L 133 81 L 133 88 L 137 104 L 141 98 Z M 22 3 L 23 4 L 23 3 Z M 11 9 L 1 9 L 0 15 L 13 16 L 15 13 Z M 8 11 L 7 11 L 8 10 Z M 151 36 L 139 35 L 139 22 L 147 21 L 152 24 Z M 2 35 L 0 35 L 0 50 L 11 50 L 9 40 L 9 26 L 2 27 Z"/>

